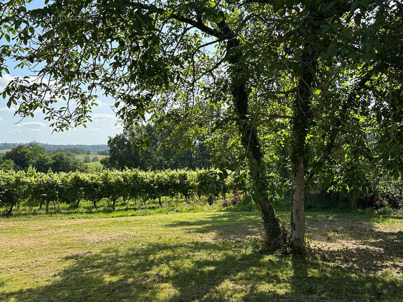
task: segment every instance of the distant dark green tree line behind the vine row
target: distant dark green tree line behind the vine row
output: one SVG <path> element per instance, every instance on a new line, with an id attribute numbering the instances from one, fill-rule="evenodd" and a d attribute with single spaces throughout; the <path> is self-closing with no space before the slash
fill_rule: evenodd
<path id="1" fill-rule="evenodd" d="M 107 169 L 123 170 L 127 167 L 143 171 L 184 168 L 195 170 L 209 166 L 210 153 L 201 142 L 204 139 L 200 138 L 186 145 L 181 143 L 173 149 L 167 147 L 167 140 L 176 139 L 170 134 L 169 129 L 157 129 L 152 124 L 139 128 L 127 126 L 122 133 L 109 137 L 109 149 L 98 151 L 99 155 L 108 155 L 100 163 Z M 137 148 L 140 142 L 146 147 Z M 79 154 L 85 155 L 83 160 L 75 159 Z M 58 148 L 47 152 L 39 143 L 30 142 L 27 146 L 18 145 L 0 157 L 0 170 L 27 170 L 32 166 L 43 173 L 49 169 L 53 172 L 84 172 L 84 164 L 99 162 L 97 156 L 90 158 L 90 154 L 89 150 L 82 147 Z"/>

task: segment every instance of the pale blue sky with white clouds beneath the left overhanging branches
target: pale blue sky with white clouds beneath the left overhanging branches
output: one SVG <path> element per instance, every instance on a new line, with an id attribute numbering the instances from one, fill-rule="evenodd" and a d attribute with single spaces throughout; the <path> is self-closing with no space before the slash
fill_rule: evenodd
<path id="1" fill-rule="evenodd" d="M 34 1 L 31 7 L 39 7 L 43 1 Z M 13 42 L 13 41 L 11 41 Z M 8 43 L 6 39 L 1 39 L 0 43 Z M 8 60 L 10 74 L 3 74 L 0 77 L 0 92 L 7 86 L 12 77 L 24 77 L 29 75 L 35 77 L 28 69 L 15 69 L 16 63 Z M 105 144 L 108 136 L 114 136 L 122 130 L 118 119 L 111 109 L 112 101 L 100 96 L 99 106 L 93 108 L 93 122 L 87 123 L 87 128 L 78 126 L 77 128 L 51 133 L 50 122 L 44 120 L 44 115 L 39 112 L 33 118 L 27 117 L 20 121 L 19 116 L 14 116 L 16 107 L 7 108 L 7 99 L 0 96 L 0 142 L 29 142 L 38 141 L 52 144 Z"/>

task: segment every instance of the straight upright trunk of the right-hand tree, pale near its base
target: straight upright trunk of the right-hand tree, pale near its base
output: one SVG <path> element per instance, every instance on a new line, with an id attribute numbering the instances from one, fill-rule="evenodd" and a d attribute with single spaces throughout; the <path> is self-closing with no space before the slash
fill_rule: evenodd
<path id="1" fill-rule="evenodd" d="M 311 86 L 316 69 L 316 58 L 313 53 L 303 56 L 301 59 L 303 73 L 298 82 L 297 96 L 294 99 L 292 141 L 291 242 L 295 252 L 305 250 L 305 137 L 310 116 Z"/>

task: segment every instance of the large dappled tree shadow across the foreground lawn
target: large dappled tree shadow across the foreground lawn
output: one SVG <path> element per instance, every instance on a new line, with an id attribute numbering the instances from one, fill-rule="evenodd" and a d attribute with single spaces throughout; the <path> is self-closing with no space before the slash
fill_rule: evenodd
<path id="1" fill-rule="evenodd" d="M 192 255 L 184 254 L 192 251 Z M 147 245 L 125 253 L 66 257 L 45 286 L 6 292 L 6 301 L 323 301 L 403 299 L 396 279 L 313 258 L 227 251 L 224 245 Z"/>

